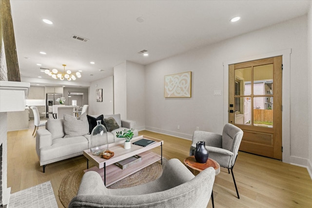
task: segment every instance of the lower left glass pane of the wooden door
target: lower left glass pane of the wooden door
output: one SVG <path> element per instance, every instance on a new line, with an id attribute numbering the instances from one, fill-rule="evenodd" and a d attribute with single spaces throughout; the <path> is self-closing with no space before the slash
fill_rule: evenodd
<path id="1" fill-rule="evenodd" d="M 251 97 L 235 97 L 235 124 L 251 125 Z"/>

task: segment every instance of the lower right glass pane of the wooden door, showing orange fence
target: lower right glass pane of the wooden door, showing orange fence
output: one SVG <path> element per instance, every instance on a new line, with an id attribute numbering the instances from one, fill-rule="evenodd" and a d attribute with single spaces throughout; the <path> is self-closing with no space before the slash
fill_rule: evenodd
<path id="1" fill-rule="evenodd" d="M 273 97 L 254 97 L 254 126 L 273 128 Z"/>

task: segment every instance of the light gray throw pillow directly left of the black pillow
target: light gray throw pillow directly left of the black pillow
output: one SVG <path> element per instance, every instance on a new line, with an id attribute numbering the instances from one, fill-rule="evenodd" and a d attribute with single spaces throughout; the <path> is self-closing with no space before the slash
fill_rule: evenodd
<path id="1" fill-rule="evenodd" d="M 82 113 L 78 118 L 64 114 L 64 132 L 64 138 L 88 134 L 89 122 L 87 113 Z"/>

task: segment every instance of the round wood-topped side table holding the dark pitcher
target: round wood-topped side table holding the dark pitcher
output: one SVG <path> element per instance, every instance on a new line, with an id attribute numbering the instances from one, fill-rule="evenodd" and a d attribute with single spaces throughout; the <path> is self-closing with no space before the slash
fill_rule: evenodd
<path id="1" fill-rule="evenodd" d="M 220 165 L 215 160 L 208 158 L 206 163 L 197 163 L 195 160 L 195 156 L 190 156 L 184 159 L 184 164 L 186 167 L 191 170 L 194 175 L 197 175 L 199 172 L 213 167 L 215 169 L 215 175 L 220 173 Z M 215 208 L 214 202 L 214 190 L 211 191 L 211 202 L 213 204 L 213 208 Z"/>

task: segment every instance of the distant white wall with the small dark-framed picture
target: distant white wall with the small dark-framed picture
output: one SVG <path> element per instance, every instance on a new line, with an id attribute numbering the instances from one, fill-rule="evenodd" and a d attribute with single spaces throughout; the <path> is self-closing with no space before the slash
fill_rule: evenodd
<path id="1" fill-rule="evenodd" d="M 99 79 L 91 83 L 89 88 L 89 115 L 114 113 L 113 76 Z M 96 90 L 103 89 L 102 102 L 96 102 Z"/>

